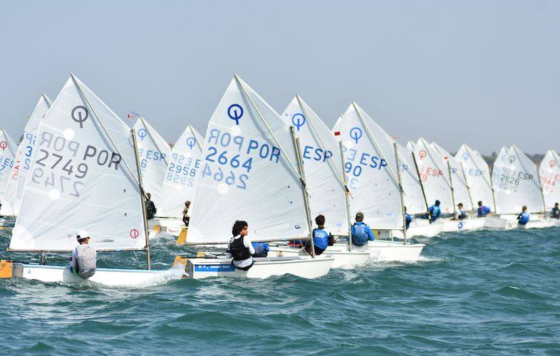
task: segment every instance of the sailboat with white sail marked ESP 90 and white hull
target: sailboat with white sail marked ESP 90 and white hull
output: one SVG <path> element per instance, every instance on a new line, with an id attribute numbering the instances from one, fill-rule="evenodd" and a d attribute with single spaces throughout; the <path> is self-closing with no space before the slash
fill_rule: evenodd
<path id="1" fill-rule="evenodd" d="M 353 249 L 367 250 L 370 258 L 377 261 L 415 260 L 424 245 L 410 244 L 406 239 L 402 174 L 395 140 L 354 102 L 337 120 L 333 132 L 343 145 L 344 172 L 351 194 L 349 216 L 361 211 L 364 222 L 383 236 L 393 237 L 393 231 L 403 231 L 404 242 L 375 239 Z"/>

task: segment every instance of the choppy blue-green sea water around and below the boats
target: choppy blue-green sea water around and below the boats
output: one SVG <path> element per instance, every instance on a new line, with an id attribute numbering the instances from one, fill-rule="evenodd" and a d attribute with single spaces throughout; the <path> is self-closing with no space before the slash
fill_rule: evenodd
<path id="1" fill-rule="evenodd" d="M 10 233 L 0 233 L 6 251 Z M 417 240 L 426 247 L 414 263 L 371 261 L 315 280 L 183 279 L 142 288 L 0 280 L 0 353 L 559 354 L 559 233 L 442 234 Z M 152 244 L 157 269 L 190 251 L 172 239 Z M 100 254 L 98 266 L 138 268 L 145 255 L 136 255 Z"/>

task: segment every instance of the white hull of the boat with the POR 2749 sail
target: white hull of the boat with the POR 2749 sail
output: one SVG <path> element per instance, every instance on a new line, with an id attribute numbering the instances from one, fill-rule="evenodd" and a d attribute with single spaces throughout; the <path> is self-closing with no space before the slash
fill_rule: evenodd
<path id="1" fill-rule="evenodd" d="M 26 263 L 14 263 L 14 277 L 33 279 L 46 283 L 98 283 L 103 286 L 142 286 L 165 283 L 184 276 L 180 267 L 165 271 L 147 271 L 135 269 L 98 268 L 95 274 L 84 280 L 70 271 L 68 266 L 42 266 Z"/>

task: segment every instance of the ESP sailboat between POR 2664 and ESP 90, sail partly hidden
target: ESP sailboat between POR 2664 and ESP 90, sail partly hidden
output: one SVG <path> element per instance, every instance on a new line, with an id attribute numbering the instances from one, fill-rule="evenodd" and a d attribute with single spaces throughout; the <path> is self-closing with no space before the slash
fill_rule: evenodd
<path id="1" fill-rule="evenodd" d="M 299 95 L 291 100 L 281 117 L 296 128 L 294 134 L 301 147 L 300 159 L 309 191 L 311 221 L 322 214 L 331 234 L 347 241 L 350 235 L 348 188 L 342 174 L 343 161 L 338 141 Z M 306 254 L 301 248 L 290 246 L 271 247 L 271 253 L 283 256 Z M 325 253 L 334 258 L 332 268 L 363 266 L 370 256 L 368 251 L 352 250 L 349 244 L 328 246 Z"/>

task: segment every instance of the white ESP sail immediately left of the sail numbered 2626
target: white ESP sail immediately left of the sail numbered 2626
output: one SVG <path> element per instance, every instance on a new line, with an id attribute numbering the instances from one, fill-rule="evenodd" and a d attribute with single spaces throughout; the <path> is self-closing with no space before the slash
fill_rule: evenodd
<path id="1" fill-rule="evenodd" d="M 465 178 L 470 187 L 472 202 L 477 209 L 478 201 L 482 201 L 485 206 L 494 206 L 492 197 L 492 182 L 490 182 L 490 169 L 484 158 L 475 150 L 467 145 L 462 145 L 455 155 L 455 159 L 461 162 L 465 169 Z"/>

